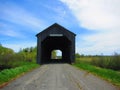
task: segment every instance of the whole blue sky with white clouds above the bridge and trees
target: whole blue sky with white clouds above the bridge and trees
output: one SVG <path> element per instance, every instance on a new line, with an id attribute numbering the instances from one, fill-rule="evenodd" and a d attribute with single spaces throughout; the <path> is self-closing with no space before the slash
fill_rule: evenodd
<path id="1" fill-rule="evenodd" d="M 0 43 L 15 52 L 54 23 L 76 34 L 76 53 L 120 53 L 120 0 L 0 0 Z"/>

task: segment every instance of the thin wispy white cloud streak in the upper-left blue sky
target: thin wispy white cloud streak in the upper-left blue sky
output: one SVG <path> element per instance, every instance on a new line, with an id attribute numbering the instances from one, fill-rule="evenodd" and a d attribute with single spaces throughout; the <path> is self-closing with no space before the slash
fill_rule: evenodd
<path id="1" fill-rule="evenodd" d="M 32 28 L 31 30 L 34 29 L 35 32 L 45 26 L 43 20 L 15 4 L 5 4 L 1 8 L 0 19 L 2 20 Z"/>

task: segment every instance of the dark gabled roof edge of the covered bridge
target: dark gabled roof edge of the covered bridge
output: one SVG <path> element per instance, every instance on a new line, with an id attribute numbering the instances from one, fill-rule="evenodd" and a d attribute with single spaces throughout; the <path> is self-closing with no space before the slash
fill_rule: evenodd
<path id="1" fill-rule="evenodd" d="M 51 26 L 49 26 L 48 28 L 44 29 L 42 32 L 38 33 L 36 36 L 39 36 L 40 34 L 45 33 L 46 31 L 50 30 L 50 29 L 53 28 L 53 27 L 61 28 L 61 30 L 65 30 L 65 32 L 67 31 L 68 33 L 71 33 L 71 34 L 73 34 L 74 36 L 76 36 L 75 33 L 69 31 L 68 29 L 64 28 L 63 26 L 61 26 L 61 25 L 59 25 L 59 24 L 57 24 L 57 23 L 54 23 L 53 25 L 51 25 Z"/>

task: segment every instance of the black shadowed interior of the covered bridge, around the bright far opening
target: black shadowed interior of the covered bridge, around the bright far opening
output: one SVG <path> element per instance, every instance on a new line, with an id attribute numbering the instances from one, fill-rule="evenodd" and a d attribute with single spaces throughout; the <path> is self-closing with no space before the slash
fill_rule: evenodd
<path id="1" fill-rule="evenodd" d="M 62 59 L 51 59 L 51 52 L 53 50 L 62 51 Z M 50 37 L 42 41 L 42 60 L 41 63 L 71 63 L 70 60 L 71 42 L 65 36 Z"/>

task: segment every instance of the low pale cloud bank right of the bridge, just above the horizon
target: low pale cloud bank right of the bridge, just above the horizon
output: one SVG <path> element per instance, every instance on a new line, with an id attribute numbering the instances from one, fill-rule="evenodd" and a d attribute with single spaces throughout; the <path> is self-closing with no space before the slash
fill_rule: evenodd
<path id="1" fill-rule="evenodd" d="M 114 34 L 113 34 L 114 33 Z M 78 35 L 77 52 L 84 54 L 120 53 L 120 32 L 104 32 L 92 35 Z"/>

